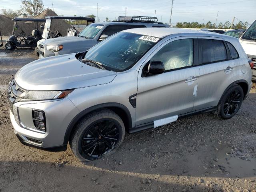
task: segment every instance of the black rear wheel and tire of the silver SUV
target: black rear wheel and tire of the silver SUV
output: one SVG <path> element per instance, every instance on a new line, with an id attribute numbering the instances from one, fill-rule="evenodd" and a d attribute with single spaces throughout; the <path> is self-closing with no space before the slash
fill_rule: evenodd
<path id="1" fill-rule="evenodd" d="M 243 100 L 243 89 L 236 84 L 223 95 L 214 114 L 222 119 L 230 119 L 238 112 Z"/>

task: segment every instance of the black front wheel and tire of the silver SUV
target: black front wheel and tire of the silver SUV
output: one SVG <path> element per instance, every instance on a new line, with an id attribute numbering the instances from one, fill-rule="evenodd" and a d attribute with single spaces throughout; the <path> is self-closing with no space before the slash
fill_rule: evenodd
<path id="1" fill-rule="evenodd" d="M 88 114 L 76 126 L 70 147 L 82 162 L 113 154 L 124 140 L 124 123 L 112 110 L 102 109 Z"/>

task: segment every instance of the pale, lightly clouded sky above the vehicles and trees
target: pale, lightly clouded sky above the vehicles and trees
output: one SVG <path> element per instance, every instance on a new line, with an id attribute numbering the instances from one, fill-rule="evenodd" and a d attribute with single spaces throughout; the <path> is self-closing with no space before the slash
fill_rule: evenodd
<path id="1" fill-rule="evenodd" d="M 94 14 L 100 21 L 117 19 L 118 16 L 154 16 L 159 22 L 170 22 L 172 0 L 42 0 L 44 8 L 51 8 L 58 15 L 87 16 Z M 98 3 L 98 9 L 97 9 Z M 0 9 L 20 9 L 21 0 L 0 0 Z M 173 0 L 172 25 L 177 22 L 234 23 L 241 20 L 251 24 L 256 20 L 256 0 Z M 97 21 L 97 17 L 96 17 Z"/>

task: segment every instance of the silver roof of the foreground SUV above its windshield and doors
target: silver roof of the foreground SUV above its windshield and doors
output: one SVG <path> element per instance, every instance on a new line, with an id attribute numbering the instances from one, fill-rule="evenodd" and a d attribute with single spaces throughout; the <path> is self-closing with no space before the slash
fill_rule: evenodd
<path id="1" fill-rule="evenodd" d="M 136 33 L 140 35 L 153 36 L 157 38 L 164 38 L 166 36 L 170 36 L 172 34 L 189 34 L 189 35 L 206 35 L 212 37 L 223 37 L 222 34 L 208 32 L 205 30 L 190 30 L 190 29 L 182 29 L 182 28 L 134 28 L 124 30 L 124 32 Z"/>

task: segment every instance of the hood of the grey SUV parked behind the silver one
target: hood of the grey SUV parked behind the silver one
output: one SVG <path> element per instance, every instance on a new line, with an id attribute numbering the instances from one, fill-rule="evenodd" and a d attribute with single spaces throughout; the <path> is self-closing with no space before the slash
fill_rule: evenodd
<path id="1" fill-rule="evenodd" d="M 44 44 L 46 45 L 64 45 L 64 44 L 70 44 L 74 42 L 86 42 L 90 41 L 91 39 L 86 39 L 84 37 L 76 37 L 76 36 L 70 36 L 70 37 L 57 37 L 57 38 L 50 38 L 44 40 Z"/>

